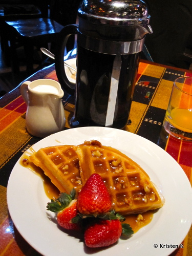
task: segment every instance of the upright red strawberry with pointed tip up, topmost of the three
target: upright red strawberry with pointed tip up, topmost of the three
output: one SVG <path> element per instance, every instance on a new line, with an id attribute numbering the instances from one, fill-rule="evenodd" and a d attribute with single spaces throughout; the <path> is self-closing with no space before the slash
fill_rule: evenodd
<path id="1" fill-rule="evenodd" d="M 77 197 L 77 208 L 83 215 L 104 214 L 111 209 L 108 189 L 99 174 L 92 174 Z"/>

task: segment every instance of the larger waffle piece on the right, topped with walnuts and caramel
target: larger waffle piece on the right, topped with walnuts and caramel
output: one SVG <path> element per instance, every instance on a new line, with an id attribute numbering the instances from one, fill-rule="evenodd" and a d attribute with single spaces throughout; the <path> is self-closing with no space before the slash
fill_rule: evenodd
<path id="1" fill-rule="evenodd" d="M 109 190 L 112 208 L 123 215 L 138 214 L 163 206 L 150 177 L 132 159 L 98 141 L 77 146 L 82 185 L 98 173 Z"/>

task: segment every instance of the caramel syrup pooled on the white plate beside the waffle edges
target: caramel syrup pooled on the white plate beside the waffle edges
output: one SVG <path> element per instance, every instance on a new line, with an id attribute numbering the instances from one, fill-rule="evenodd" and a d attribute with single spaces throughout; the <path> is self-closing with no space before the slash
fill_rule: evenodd
<path id="1" fill-rule="evenodd" d="M 44 190 L 47 195 L 47 197 L 51 199 L 56 199 L 59 197 L 59 190 L 57 187 L 51 182 L 49 177 L 47 177 L 44 172 L 42 172 L 42 169 L 40 167 L 37 167 L 32 162 L 29 161 L 29 155 L 24 153 L 23 158 L 20 160 L 20 164 L 24 167 L 27 167 L 30 169 L 33 173 L 38 175 L 43 184 L 44 184 Z M 138 214 L 133 214 L 129 216 L 125 216 L 125 221 L 123 223 L 130 224 L 132 227 L 134 233 L 136 233 L 140 228 L 146 226 L 148 223 L 150 223 L 153 219 L 154 211 L 146 211 L 142 214 L 142 220 L 138 220 Z"/>

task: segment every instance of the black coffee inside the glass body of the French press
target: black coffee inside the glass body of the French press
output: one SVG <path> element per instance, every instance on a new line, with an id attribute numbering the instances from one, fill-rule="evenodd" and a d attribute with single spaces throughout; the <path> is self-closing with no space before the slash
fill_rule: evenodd
<path id="1" fill-rule="evenodd" d="M 71 126 L 106 126 L 106 112 L 116 55 L 77 48 L 77 92 L 75 120 Z M 121 55 L 121 70 L 115 114 L 111 127 L 122 129 L 128 119 L 140 54 Z"/>

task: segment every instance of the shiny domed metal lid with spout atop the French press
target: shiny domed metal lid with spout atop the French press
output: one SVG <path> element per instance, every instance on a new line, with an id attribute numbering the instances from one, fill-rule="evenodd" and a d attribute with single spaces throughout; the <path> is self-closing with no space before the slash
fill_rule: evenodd
<path id="1" fill-rule="evenodd" d="M 96 38 L 129 41 L 152 33 L 142 0 L 84 0 L 78 16 L 79 31 Z"/>

